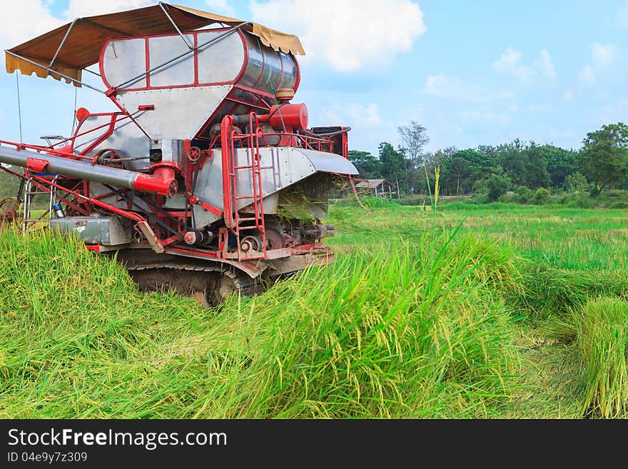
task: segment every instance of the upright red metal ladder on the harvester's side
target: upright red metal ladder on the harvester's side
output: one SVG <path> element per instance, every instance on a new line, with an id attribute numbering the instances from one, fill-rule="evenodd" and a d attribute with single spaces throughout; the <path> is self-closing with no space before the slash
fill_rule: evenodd
<path id="1" fill-rule="evenodd" d="M 258 126 L 257 116 L 250 114 L 249 129 L 254 133 L 238 133 L 233 125 L 233 116 L 225 116 L 221 123 L 221 146 L 223 153 L 223 206 L 226 226 L 236 235 L 238 248 L 238 261 L 250 259 L 265 259 L 266 254 L 266 226 L 264 221 L 264 203 L 262 196 L 262 170 L 260 158 L 259 140 L 263 132 Z M 253 126 L 254 125 L 254 126 Z M 250 164 L 239 165 L 237 161 L 236 142 L 240 148 L 246 146 L 250 154 Z M 246 145 L 243 145 L 245 143 Z M 252 194 L 238 194 L 238 181 L 250 177 Z M 251 216 L 241 216 L 238 211 L 238 202 L 250 200 L 246 206 L 253 206 Z M 251 233 L 253 232 L 253 233 Z M 248 250 L 243 251 L 241 238 L 255 236 L 261 241 L 261 250 L 252 251 L 250 244 Z M 249 234 L 247 234 L 249 233 Z"/>

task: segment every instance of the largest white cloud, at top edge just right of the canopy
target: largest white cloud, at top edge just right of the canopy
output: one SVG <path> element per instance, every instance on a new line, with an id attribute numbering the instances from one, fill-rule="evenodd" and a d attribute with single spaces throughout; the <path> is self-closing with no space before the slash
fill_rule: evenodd
<path id="1" fill-rule="evenodd" d="M 250 2 L 253 19 L 299 36 L 306 54 L 338 71 L 381 65 L 408 51 L 425 33 L 423 12 L 410 0 L 270 0 Z"/>

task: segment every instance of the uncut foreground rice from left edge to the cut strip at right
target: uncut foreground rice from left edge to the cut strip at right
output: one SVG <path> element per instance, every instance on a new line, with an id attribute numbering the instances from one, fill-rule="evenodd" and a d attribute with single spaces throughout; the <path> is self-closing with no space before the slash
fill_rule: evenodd
<path id="1" fill-rule="evenodd" d="M 203 310 L 74 238 L 0 238 L 0 416 L 487 417 L 513 394 L 509 251 L 424 233 Z"/>

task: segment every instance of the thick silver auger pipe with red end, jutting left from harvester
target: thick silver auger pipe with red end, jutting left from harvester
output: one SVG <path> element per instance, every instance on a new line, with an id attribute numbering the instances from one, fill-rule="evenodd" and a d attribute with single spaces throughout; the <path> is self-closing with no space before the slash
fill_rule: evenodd
<path id="1" fill-rule="evenodd" d="M 46 171 L 64 174 L 73 178 L 87 179 L 88 181 L 111 184 L 136 191 L 158 193 L 168 197 L 173 196 L 177 190 L 172 168 L 160 167 L 155 170 L 154 175 L 150 175 L 109 166 L 92 166 L 87 161 L 16 150 L 6 146 L 0 147 L 0 163 L 30 168 L 31 171 L 36 172 Z"/>

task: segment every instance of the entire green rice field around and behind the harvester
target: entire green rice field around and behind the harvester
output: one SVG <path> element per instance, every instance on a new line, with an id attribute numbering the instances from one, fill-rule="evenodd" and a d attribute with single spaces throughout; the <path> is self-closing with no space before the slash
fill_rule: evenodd
<path id="1" fill-rule="evenodd" d="M 333 266 L 203 309 L 0 236 L 0 418 L 627 418 L 628 211 L 332 206 Z"/>

